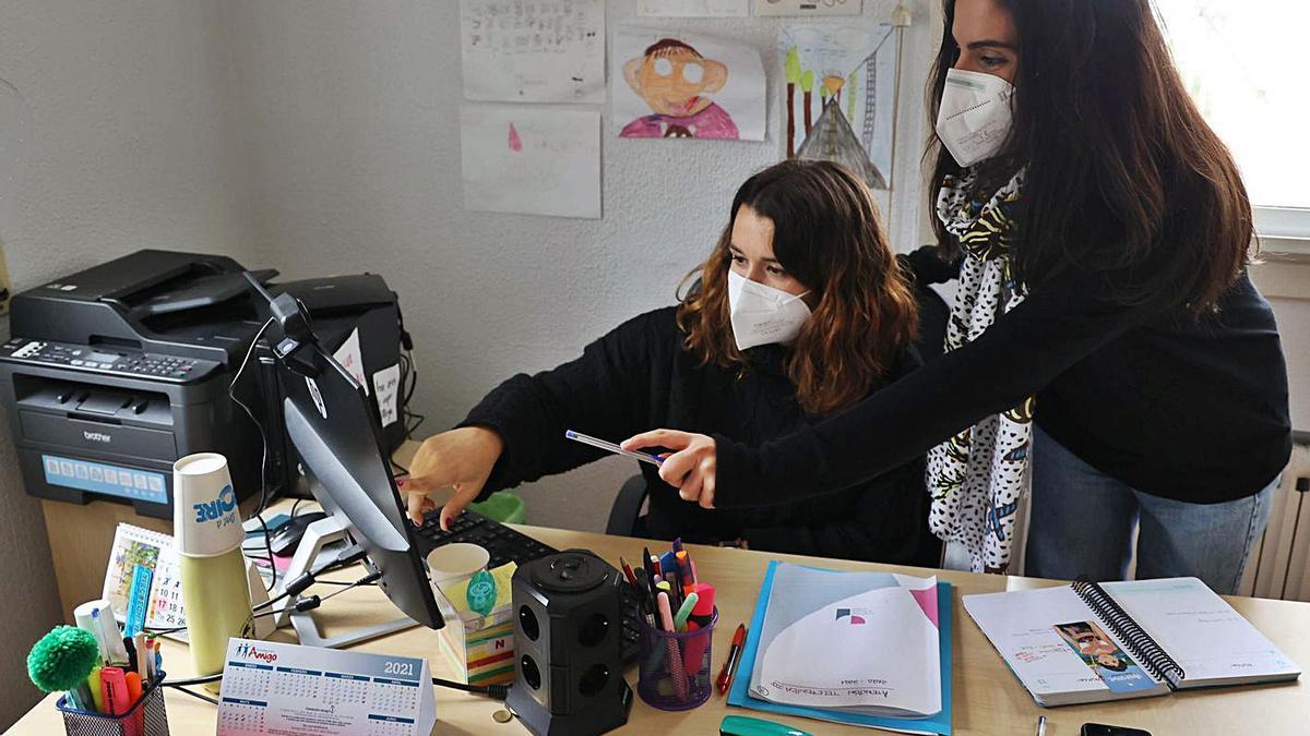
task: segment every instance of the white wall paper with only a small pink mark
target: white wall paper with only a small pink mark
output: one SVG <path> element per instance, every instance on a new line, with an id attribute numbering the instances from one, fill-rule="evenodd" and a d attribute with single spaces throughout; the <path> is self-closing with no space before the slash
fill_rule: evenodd
<path id="1" fill-rule="evenodd" d="M 464 105 L 460 140 L 466 210 L 600 217 L 600 113 Z"/>

